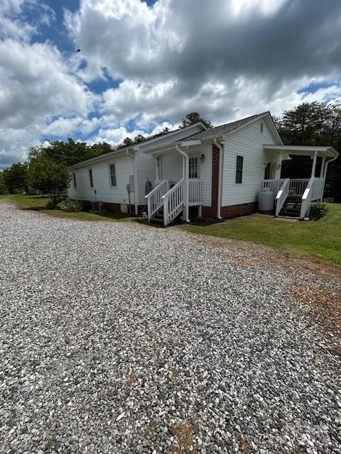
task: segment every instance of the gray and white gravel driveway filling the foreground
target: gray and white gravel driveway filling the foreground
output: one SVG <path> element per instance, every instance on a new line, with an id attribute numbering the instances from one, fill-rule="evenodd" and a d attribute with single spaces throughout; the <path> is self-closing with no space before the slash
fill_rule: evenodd
<path id="1" fill-rule="evenodd" d="M 241 254 L 1 204 L 0 452 L 341 453 L 340 357 Z"/>

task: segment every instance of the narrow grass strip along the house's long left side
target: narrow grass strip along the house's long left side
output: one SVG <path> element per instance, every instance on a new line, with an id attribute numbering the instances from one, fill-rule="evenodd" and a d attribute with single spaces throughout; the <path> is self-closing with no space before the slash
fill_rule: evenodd
<path id="1" fill-rule="evenodd" d="M 47 196 L 41 195 L 11 194 L 0 196 L 0 200 L 13 202 L 14 204 L 20 204 L 23 205 L 24 209 L 40 211 L 40 213 L 49 214 L 50 216 L 77 219 L 78 221 L 136 221 L 136 218 L 127 216 L 126 214 L 116 214 L 109 211 L 102 211 L 99 213 L 89 213 L 87 211 L 67 213 L 67 211 L 47 209 L 45 208 L 45 205 L 50 199 Z"/>

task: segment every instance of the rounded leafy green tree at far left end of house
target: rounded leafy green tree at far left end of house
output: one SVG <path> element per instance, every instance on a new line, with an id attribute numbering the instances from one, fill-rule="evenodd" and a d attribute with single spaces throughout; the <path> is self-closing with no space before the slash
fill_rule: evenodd
<path id="1" fill-rule="evenodd" d="M 65 164 L 58 164 L 43 157 L 35 157 L 28 167 L 29 184 L 43 194 L 50 196 L 53 204 L 58 204 L 60 194 L 65 192 L 71 175 Z"/>

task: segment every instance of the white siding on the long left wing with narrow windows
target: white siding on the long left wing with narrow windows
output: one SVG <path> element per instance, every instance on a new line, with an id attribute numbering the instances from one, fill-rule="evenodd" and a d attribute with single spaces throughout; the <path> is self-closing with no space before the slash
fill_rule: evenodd
<path id="1" fill-rule="evenodd" d="M 117 186 L 112 187 L 109 177 L 109 165 L 114 164 L 116 170 Z M 92 169 L 94 187 L 90 188 L 89 169 Z M 104 162 L 93 163 L 86 167 L 71 169 L 75 172 L 77 188 L 73 186 L 73 180 L 67 190 L 70 199 L 106 201 L 114 204 L 128 203 L 126 184 L 129 183 L 129 175 L 134 175 L 133 160 L 129 156 L 113 157 Z M 97 194 L 94 193 L 96 189 Z M 134 202 L 134 194 L 131 203 Z"/>

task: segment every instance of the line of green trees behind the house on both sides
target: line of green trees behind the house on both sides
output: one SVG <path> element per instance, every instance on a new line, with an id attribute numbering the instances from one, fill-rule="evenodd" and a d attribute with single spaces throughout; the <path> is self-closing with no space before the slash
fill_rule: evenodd
<path id="1" fill-rule="evenodd" d="M 197 121 L 202 121 L 207 128 L 212 128 L 212 123 L 197 112 L 187 114 L 179 128 L 185 128 Z M 274 121 L 286 145 L 332 145 L 341 152 L 340 101 L 330 104 L 302 103 L 284 111 L 281 116 L 275 117 Z M 164 128 L 160 134 L 168 132 L 168 128 Z M 134 139 L 126 138 L 117 148 L 141 143 L 156 136 L 136 135 Z M 71 138 L 65 142 L 50 141 L 48 146 L 38 145 L 29 150 L 27 162 L 15 162 L 0 172 L 0 194 L 28 192 L 32 187 L 49 194 L 51 199 L 57 201 L 70 182 L 67 167 L 111 151 L 111 145 L 105 142 L 88 145 L 85 142 L 75 142 Z M 283 163 L 281 177 L 309 177 L 310 169 L 309 157 L 293 156 L 292 160 Z M 328 167 L 325 196 L 341 202 L 340 156 Z"/>

